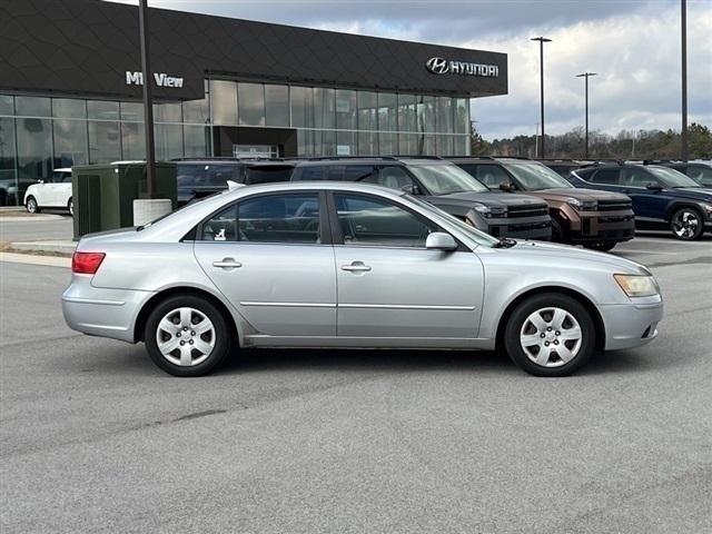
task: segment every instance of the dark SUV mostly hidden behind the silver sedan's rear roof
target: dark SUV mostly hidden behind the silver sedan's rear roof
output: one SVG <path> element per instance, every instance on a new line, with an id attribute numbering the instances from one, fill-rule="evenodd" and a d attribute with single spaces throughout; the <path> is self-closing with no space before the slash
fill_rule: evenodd
<path id="1" fill-rule="evenodd" d="M 265 184 L 287 181 L 294 164 L 267 159 L 176 159 L 178 206 L 227 189 L 227 182 Z"/>

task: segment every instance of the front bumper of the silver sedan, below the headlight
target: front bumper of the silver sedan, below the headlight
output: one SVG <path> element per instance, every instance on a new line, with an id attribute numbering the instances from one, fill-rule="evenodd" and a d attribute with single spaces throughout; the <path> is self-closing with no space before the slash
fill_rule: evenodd
<path id="1" fill-rule="evenodd" d="M 635 348 L 657 337 L 657 324 L 663 318 L 660 296 L 631 304 L 599 306 L 605 328 L 605 350 Z"/>

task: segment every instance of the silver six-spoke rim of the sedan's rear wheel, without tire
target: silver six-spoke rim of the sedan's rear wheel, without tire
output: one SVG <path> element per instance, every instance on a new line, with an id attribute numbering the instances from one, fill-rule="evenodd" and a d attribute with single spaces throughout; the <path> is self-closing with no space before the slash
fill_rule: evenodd
<path id="1" fill-rule="evenodd" d="M 156 343 L 164 358 L 171 364 L 184 367 L 198 365 L 215 348 L 215 326 L 198 309 L 176 308 L 158 323 Z"/>

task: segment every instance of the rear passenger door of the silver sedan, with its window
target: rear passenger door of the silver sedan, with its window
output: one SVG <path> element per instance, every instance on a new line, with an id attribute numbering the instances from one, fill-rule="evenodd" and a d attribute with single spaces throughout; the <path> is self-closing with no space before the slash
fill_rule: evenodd
<path id="1" fill-rule="evenodd" d="M 249 323 L 248 335 L 336 335 L 334 248 L 318 192 L 256 195 L 201 225 L 196 258 Z"/>

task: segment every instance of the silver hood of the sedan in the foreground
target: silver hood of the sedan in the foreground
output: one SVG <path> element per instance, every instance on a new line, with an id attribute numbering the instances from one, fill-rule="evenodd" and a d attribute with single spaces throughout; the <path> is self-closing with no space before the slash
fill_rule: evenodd
<path id="1" fill-rule="evenodd" d="M 613 254 L 597 253 L 570 245 L 558 245 L 547 241 L 517 240 L 512 250 L 523 256 L 547 257 L 561 265 L 573 261 L 591 261 L 597 266 L 606 265 L 612 270 L 621 274 L 650 275 L 647 268 L 630 259 L 621 258 Z M 526 260 L 524 261 L 526 263 Z"/>

